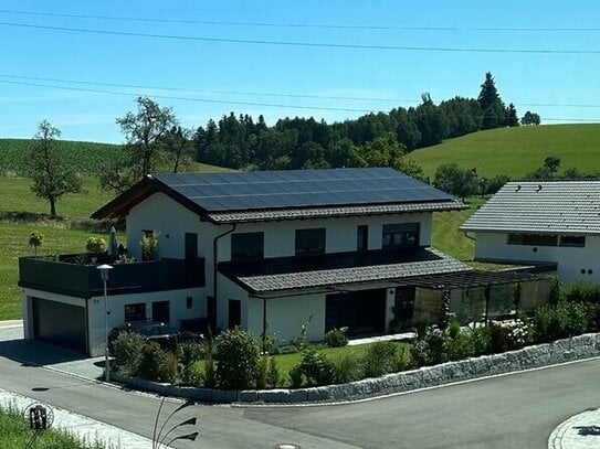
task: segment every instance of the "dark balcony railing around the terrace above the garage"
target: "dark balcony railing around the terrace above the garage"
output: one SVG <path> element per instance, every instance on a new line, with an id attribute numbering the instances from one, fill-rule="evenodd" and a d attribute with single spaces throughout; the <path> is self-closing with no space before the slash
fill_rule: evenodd
<path id="1" fill-rule="evenodd" d="M 19 286 L 78 298 L 103 295 L 96 264 L 85 255 L 21 257 Z M 161 259 L 115 264 L 107 282 L 108 295 L 165 291 L 204 287 L 204 259 Z"/>

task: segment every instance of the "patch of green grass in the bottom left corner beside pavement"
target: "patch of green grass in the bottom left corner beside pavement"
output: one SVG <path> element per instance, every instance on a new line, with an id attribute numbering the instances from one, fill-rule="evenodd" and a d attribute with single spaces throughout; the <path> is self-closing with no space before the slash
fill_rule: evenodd
<path id="1" fill-rule="evenodd" d="M 0 408 L 0 448 L 24 448 L 33 431 L 22 414 L 13 407 Z M 34 448 L 45 449 L 106 449 L 101 441 L 82 441 L 75 436 L 56 429 L 44 430 L 35 440 Z M 112 446 L 114 447 L 114 446 Z"/>

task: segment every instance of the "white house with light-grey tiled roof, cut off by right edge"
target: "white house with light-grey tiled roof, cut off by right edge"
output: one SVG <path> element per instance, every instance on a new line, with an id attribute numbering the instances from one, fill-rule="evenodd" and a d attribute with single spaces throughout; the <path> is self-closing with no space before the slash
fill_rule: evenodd
<path id="1" fill-rule="evenodd" d="M 476 238 L 476 260 L 546 264 L 564 282 L 600 282 L 600 181 L 508 182 L 461 229 Z"/>

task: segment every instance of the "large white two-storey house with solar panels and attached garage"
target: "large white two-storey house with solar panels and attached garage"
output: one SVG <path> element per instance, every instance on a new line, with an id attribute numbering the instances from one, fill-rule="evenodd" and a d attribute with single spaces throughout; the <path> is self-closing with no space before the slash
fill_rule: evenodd
<path id="1" fill-rule="evenodd" d="M 141 236 L 158 238 L 157 260 L 114 265 L 107 328 L 206 318 L 212 329 L 241 325 L 282 342 L 307 322 L 313 341 L 340 327 L 378 334 L 435 322 L 442 299 L 463 287 L 537 279 L 478 274 L 431 248 L 432 213 L 463 209 L 391 169 L 148 177 L 93 214 L 126 218 L 138 260 Z M 99 274 L 61 257 L 20 259 L 25 336 L 101 354 Z"/>

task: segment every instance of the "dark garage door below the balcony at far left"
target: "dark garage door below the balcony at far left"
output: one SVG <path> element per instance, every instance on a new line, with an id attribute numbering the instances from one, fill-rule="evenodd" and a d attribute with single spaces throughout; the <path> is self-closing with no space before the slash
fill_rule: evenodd
<path id="1" fill-rule="evenodd" d="M 87 352 L 85 344 L 85 309 L 33 298 L 33 333 L 36 340 Z"/>

